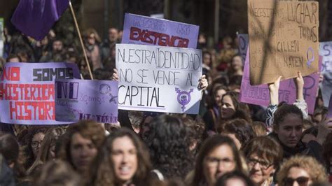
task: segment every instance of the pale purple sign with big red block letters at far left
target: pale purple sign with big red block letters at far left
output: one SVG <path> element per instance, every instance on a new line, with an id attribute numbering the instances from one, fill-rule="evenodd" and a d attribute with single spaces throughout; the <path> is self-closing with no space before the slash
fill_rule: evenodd
<path id="1" fill-rule="evenodd" d="M 0 81 L 1 122 L 64 124 L 55 121 L 55 78 L 80 78 L 80 73 L 76 64 L 6 63 Z"/>

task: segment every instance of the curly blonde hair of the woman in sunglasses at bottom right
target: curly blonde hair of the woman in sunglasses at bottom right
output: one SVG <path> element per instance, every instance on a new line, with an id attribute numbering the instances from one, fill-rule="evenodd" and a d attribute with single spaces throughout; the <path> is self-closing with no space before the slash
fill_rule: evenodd
<path id="1" fill-rule="evenodd" d="M 303 155 L 296 155 L 286 160 L 277 173 L 278 185 L 284 185 L 284 179 L 293 167 L 302 168 L 309 174 L 312 182 L 324 182 L 327 180 L 326 170 L 316 159 Z"/>

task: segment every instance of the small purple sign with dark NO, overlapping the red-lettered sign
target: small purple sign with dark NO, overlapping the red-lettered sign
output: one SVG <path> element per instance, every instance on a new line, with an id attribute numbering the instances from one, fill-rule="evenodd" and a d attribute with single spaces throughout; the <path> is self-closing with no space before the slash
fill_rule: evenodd
<path id="1" fill-rule="evenodd" d="M 118 82 L 55 80 L 55 120 L 118 122 Z"/>

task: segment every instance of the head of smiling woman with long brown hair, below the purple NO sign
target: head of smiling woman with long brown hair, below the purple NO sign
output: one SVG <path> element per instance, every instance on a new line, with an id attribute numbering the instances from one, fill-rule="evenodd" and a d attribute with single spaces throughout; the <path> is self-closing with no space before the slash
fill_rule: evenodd
<path id="1" fill-rule="evenodd" d="M 151 162 L 148 149 L 130 129 L 109 135 L 92 164 L 91 185 L 141 185 L 148 180 Z"/>

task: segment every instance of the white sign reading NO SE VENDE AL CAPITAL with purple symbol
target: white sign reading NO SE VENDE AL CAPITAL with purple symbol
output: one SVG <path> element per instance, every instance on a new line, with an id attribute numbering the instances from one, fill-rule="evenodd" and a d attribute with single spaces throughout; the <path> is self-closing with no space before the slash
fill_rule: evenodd
<path id="1" fill-rule="evenodd" d="M 118 108 L 197 114 L 202 50 L 116 45 Z"/>

